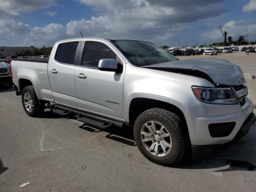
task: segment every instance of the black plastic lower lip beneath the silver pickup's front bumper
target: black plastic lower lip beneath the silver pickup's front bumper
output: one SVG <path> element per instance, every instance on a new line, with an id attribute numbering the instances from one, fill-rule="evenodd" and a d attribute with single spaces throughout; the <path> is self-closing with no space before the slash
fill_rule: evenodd
<path id="1" fill-rule="evenodd" d="M 238 140 L 242 136 L 246 135 L 248 131 L 250 130 L 250 127 L 254 124 L 255 122 L 255 114 L 251 113 L 248 118 L 244 121 L 242 124 L 242 127 L 236 134 L 233 140 L 226 144 L 216 144 L 216 145 L 192 145 L 192 156 L 193 159 L 200 159 L 206 156 L 209 156 L 210 154 L 213 154 L 216 152 L 220 147 L 226 146 L 227 144 L 230 144 L 231 142 Z"/>

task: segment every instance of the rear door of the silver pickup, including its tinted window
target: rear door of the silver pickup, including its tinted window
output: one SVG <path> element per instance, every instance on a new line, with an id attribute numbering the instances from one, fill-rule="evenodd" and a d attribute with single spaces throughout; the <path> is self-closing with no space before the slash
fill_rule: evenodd
<path id="1" fill-rule="evenodd" d="M 52 96 L 56 103 L 76 107 L 76 88 L 74 70 L 80 41 L 59 42 L 52 52 L 48 64 L 48 77 Z"/>

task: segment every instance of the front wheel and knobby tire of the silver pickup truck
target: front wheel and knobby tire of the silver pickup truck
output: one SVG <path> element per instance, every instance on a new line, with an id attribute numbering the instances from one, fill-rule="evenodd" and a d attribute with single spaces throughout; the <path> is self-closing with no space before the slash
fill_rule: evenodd
<path id="1" fill-rule="evenodd" d="M 161 130 L 156 130 L 156 133 L 158 134 L 154 134 L 149 129 L 147 131 L 147 127 L 145 124 L 147 123 L 148 127 L 150 127 L 152 126 L 152 122 L 154 122 L 156 128 L 162 128 L 162 126 L 164 126 L 165 131 L 162 132 L 162 134 L 160 134 Z M 151 125 L 149 125 L 150 123 Z M 133 133 L 134 140 L 138 146 L 138 149 L 148 160 L 160 165 L 170 166 L 179 162 L 185 156 L 186 152 L 189 149 L 189 138 L 188 134 L 186 134 L 186 130 L 186 124 L 182 122 L 182 118 L 180 118 L 180 116 L 178 116 L 177 114 L 160 108 L 151 108 L 142 112 L 138 116 L 134 124 Z M 141 132 L 143 132 L 144 134 L 145 132 L 148 133 L 148 137 L 144 137 L 144 134 L 141 134 Z M 169 136 L 166 137 L 168 133 L 170 138 Z M 154 137 L 155 141 L 152 141 L 154 140 L 154 138 L 152 138 L 152 135 L 156 135 Z M 146 138 L 149 141 L 142 142 L 142 140 Z M 166 144 L 163 145 L 164 141 L 166 141 L 167 143 L 171 143 L 170 148 L 166 147 L 164 149 L 166 152 L 164 152 L 162 148 L 162 146 L 166 146 Z M 154 151 L 156 145 L 158 146 L 158 156 L 156 156 L 157 153 Z M 150 147 L 152 146 L 154 147 L 152 150 L 150 150 Z"/>

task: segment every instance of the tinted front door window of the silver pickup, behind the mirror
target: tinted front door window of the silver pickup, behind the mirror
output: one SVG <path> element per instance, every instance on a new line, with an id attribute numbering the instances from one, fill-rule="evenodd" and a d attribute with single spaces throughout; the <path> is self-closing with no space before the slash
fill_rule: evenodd
<path id="1" fill-rule="evenodd" d="M 116 59 L 116 54 L 102 43 L 86 42 L 82 66 L 98 68 L 98 63 L 101 59 Z"/>

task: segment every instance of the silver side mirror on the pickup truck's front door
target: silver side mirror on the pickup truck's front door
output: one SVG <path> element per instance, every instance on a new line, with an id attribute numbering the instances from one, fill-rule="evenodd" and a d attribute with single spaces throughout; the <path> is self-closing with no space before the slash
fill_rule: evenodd
<path id="1" fill-rule="evenodd" d="M 120 72 L 120 66 L 115 59 L 101 59 L 98 68 L 101 71 Z"/>

